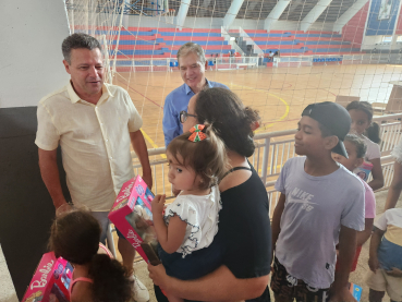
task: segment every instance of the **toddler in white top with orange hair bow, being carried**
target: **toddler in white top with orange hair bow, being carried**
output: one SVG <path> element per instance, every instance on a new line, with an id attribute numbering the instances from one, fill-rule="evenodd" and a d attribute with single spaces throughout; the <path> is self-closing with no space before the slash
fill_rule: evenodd
<path id="1" fill-rule="evenodd" d="M 169 182 L 181 193 L 166 209 L 165 195 L 151 202 L 158 252 L 168 275 L 196 279 L 219 267 L 217 261 L 192 257 L 192 252 L 208 247 L 218 232 L 218 181 L 227 170 L 227 152 L 211 125 L 196 124 L 169 144 L 167 157 Z M 166 294 L 170 302 L 183 301 Z"/>

